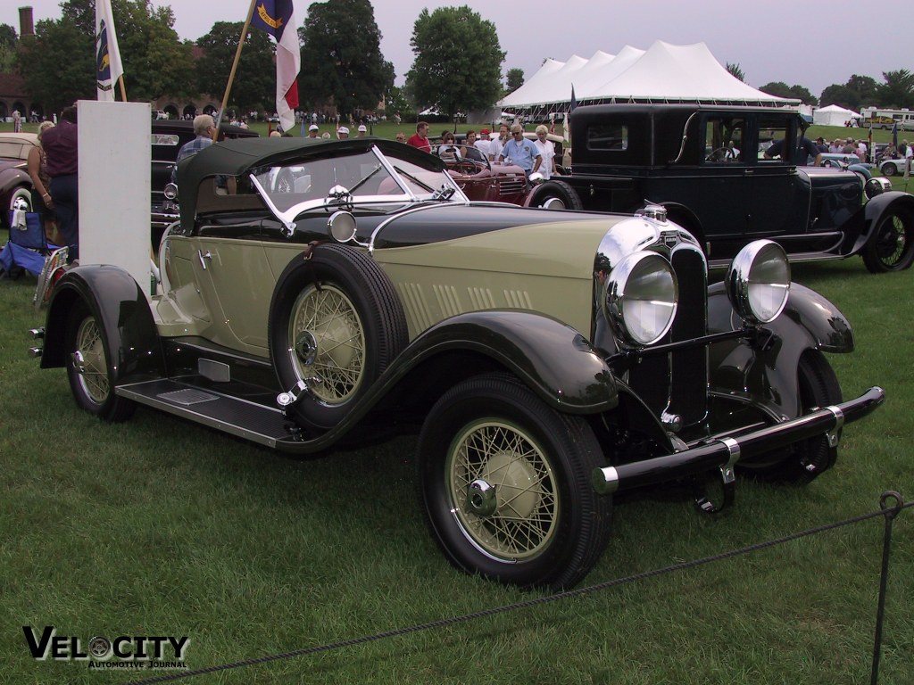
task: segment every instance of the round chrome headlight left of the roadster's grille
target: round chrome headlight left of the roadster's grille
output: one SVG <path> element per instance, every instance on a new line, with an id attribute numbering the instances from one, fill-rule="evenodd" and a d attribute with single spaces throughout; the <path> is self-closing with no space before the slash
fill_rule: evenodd
<path id="1" fill-rule="evenodd" d="M 635 252 L 617 264 L 606 283 L 604 308 L 624 342 L 651 345 L 670 330 L 679 285 L 670 263 L 656 252 Z"/>

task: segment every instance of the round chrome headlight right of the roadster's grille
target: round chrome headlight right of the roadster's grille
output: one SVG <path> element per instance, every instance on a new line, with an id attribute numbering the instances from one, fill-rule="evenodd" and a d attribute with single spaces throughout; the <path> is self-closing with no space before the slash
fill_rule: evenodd
<path id="1" fill-rule="evenodd" d="M 784 249 L 771 240 L 749 243 L 730 262 L 726 283 L 730 304 L 744 321 L 774 321 L 791 290 L 791 267 Z"/>

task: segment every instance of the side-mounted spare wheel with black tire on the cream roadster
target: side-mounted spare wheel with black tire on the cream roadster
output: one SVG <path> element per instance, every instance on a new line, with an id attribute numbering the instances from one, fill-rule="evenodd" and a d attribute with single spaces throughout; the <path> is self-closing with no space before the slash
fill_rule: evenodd
<path id="1" fill-rule="evenodd" d="M 332 243 L 282 271 L 268 326 L 280 385 L 297 396 L 290 416 L 321 430 L 342 421 L 409 342 L 387 274 L 358 249 Z"/>

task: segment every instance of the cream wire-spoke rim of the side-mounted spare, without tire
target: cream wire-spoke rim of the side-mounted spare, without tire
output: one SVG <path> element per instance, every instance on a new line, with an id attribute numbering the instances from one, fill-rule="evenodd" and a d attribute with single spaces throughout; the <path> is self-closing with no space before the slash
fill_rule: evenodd
<path id="1" fill-rule="evenodd" d="M 365 369 L 366 336 L 345 292 L 333 285 L 303 290 L 292 308 L 289 340 L 301 377 L 320 379 L 314 395 L 333 405 L 356 393 Z"/>

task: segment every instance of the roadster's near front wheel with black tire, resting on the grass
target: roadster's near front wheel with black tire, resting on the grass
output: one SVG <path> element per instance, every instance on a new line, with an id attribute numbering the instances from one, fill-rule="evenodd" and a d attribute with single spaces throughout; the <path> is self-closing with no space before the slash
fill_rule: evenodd
<path id="1" fill-rule="evenodd" d="M 418 465 L 431 532 L 467 573 L 570 586 L 607 543 L 612 501 L 590 487 L 590 472 L 605 466 L 593 432 L 513 376 L 479 376 L 443 395 L 423 425 Z"/>

